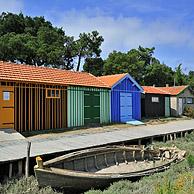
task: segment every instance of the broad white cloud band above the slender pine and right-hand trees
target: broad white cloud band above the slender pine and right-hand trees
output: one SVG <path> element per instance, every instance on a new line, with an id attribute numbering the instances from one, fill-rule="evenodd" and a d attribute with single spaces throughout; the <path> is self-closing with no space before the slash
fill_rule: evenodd
<path id="1" fill-rule="evenodd" d="M 192 30 L 181 28 L 173 20 L 144 22 L 135 17 L 89 16 L 72 10 L 58 16 L 57 26 L 62 26 L 67 35 L 78 36 L 80 32 L 98 30 L 104 37 L 103 54 L 112 50 L 129 50 L 142 46 L 183 46 L 194 41 Z"/>

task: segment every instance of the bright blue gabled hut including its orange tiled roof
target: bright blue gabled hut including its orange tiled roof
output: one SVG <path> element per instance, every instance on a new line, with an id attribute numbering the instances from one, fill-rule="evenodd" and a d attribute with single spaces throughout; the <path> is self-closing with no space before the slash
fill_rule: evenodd
<path id="1" fill-rule="evenodd" d="M 111 122 L 141 119 L 143 89 L 128 73 L 101 76 L 99 79 L 111 87 Z"/>

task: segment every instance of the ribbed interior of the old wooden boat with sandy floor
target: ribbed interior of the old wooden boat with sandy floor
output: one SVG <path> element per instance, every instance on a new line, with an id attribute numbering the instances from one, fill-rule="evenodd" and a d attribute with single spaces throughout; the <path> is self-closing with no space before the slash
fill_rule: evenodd
<path id="1" fill-rule="evenodd" d="M 44 163 L 44 167 L 97 173 L 129 173 L 165 165 L 173 156 L 142 147 L 113 147 L 67 154 Z"/>

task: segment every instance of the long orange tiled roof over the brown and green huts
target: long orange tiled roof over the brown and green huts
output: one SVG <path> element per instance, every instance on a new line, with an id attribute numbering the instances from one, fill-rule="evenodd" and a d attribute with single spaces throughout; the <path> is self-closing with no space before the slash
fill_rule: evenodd
<path id="1" fill-rule="evenodd" d="M 0 80 L 108 88 L 92 74 L 0 61 Z"/>

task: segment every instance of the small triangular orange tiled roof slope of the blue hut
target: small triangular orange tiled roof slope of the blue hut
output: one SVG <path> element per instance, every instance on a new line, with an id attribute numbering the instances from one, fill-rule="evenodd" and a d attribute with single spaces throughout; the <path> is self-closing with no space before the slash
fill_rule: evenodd
<path id="1" fill-rule="evenodd" d="M 117 83 L 120 79 L 125 77 L 128 73 L 123 74 L 115 74 L 115 75 L 105 75 L 98 77 L 101 81 L 107 84 L 109 87 L 112 87 L 115 83 Z"/>

